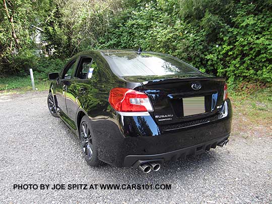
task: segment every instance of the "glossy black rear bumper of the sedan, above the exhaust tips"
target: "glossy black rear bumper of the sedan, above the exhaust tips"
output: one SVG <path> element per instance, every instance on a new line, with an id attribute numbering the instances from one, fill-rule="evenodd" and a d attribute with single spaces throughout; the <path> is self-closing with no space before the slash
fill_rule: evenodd
<path id="1" fill-rule="evenodd" d="M 202 123 L 190 126 L 158 126 L 151 116 L 118 113 L 108 119 L 90 120 L 98 157 L 113 166 L 130 167 L 139 160 L 165 162 L 215 148 L 231 131 L 229 100 L 227 106 L 224 117 L 201 120 Z"/>

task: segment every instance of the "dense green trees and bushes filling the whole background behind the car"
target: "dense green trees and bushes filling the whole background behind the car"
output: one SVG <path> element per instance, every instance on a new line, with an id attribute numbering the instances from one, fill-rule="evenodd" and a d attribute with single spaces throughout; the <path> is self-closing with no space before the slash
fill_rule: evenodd
<path id="1" fill-rule="evenodd" d="M 230 83 L 272 82 L 271 0 L 3 0 L 0 8 L 2 76 L 33 68 L 45 78 L 85 49 L 142 46 Z"/>

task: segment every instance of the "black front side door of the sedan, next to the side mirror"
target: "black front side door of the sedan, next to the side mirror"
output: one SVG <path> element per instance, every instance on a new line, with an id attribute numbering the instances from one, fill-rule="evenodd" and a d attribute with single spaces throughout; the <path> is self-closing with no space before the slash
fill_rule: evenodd
<path id="1" fill-rule="evenodd" d="M 70 83 L 69 81 L 73 77 L 77 58 L 72 58 L 65 66 L 64 69 L 59 74 L 59 79 L 57 80 L 55 86 L 57 106 L 60 108 L 61 112 L 67 114 L 66 108 L 66 88 Z"/>

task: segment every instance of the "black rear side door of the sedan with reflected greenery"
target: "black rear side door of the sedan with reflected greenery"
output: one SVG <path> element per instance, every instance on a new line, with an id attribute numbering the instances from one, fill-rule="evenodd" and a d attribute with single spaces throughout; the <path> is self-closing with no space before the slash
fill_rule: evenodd
<path id="1" fill-rule="evenodd" d="M 78 109 L 84 109 L 93 118 L 107 118 L 109 87 L 101 84 L 103 65 L 91 55 L 82 55 L 78 60 L 71 84 L 67 86 L 67 114 L 76 121 Z M 105 79 L 104 79 L 105 80 Z M 104 81 L 103 80 L 103 81 Z"/>

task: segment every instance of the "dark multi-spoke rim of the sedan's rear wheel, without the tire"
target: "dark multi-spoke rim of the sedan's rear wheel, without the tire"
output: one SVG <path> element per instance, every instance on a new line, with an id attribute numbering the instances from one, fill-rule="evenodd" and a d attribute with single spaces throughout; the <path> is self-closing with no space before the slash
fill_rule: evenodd
<path id="1" fill-rule="evenodd" d="M 91 160 L 93 155 L 92 135 L 85 121 L 82 122 L 80 127 L 80 141 L 85 158 Z"/>

